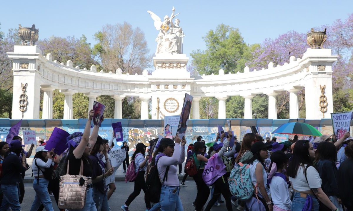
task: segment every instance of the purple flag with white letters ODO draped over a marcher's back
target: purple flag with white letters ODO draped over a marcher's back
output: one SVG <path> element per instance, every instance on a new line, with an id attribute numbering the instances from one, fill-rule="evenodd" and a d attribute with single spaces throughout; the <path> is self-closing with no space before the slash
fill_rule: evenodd
<path id="1" fill-rule="evenodd" d="M 226 166 L 224 165 L 222 158 L 216 153 L 207 161 L 202 173 L 202 179 L 207 186 L 210 186 L 225 173 L 227 173 Z"/>

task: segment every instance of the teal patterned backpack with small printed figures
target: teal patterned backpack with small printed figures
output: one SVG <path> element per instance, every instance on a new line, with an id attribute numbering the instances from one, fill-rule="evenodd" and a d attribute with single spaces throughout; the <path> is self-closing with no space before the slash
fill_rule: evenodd
<path id="1" fill-rule="evenodd" d="M 256 189 L 251 181 L 249 164 L 243 165 L 239 162 L 238 165 L 235 165 L 228 182 L 232 195 L 242 201 L 249 199 Z"/>

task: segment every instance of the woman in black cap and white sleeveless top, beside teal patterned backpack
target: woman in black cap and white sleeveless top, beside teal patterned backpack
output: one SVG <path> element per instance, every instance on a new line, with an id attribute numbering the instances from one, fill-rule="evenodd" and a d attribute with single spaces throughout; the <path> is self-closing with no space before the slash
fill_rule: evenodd
<path id="1" fill-rule="evenodd" d="M 249 210 L 272 211 L 272 202 L 268 196 L 267 172 L 265 170 L 264 159 L 268 158 L 268 149 L 272 146 L 266 146 L 262 141 L 258 141 L 251 146 L 250 151 L 253 157 L 250 163 L 250 177 L 252 184 L 257 188 L 257 194 L 246 200 L 246 206 Z"/>

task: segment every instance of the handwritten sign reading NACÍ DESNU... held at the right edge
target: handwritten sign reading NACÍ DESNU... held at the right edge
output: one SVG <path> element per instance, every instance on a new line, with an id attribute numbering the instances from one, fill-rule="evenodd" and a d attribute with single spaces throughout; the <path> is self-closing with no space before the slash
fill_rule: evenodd
<path id="1" fill-rule="evenodd" d="M 351 125 L 352 111 L 331 113 L 333 132 L 337 139 L 340 139 L 349 131 Z"/>

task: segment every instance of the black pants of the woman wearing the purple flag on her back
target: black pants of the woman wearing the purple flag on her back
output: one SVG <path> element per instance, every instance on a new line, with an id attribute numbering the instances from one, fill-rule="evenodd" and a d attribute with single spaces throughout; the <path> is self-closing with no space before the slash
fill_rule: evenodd
<path id="1" fill-rule="evenodd" d="M 211 207 L 218 201 L 218 198 L 222 194 L 224 199 L 226 200 L 226 207 L 228 211 L 232 211 L 232 203 L 231 203 L 231 191 L 229 191 L 229 185 L 227 178 L 223 176 L 218 178 L 215 183 L 215 190 L 213 191 L 213 196 L 211 200 L 208 202 L 205 211 L 211 210 Z"/>

